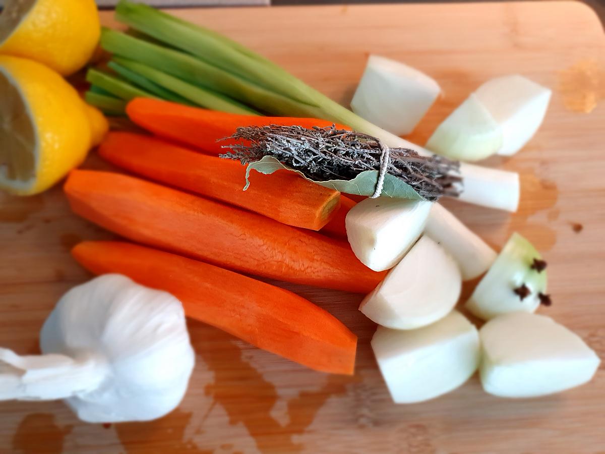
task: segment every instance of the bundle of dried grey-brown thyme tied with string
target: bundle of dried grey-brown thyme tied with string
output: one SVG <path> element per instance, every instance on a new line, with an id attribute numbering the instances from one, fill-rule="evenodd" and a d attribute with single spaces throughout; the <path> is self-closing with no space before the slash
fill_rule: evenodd
<path id="1" fill-rule="evenodd" d="M 225 145 L 227 159 L 243 164 L 272 156 L 286 166 L 301 171 L 315 181 L 352 180 L 367 170 L 379 172 L 374 196 L 382 190 L 385 173 L 402 179 L 424 199 L 435 201 L 443 195 L 458 196 L 461 179 L 455 172 L 459 163 L 449 159 L 420 156 L 408 148 L 387 148 L 376 137 L 332 127 L 313 129 L 270 125 L 241 127 L 226 139 L 249 143 Z"/>

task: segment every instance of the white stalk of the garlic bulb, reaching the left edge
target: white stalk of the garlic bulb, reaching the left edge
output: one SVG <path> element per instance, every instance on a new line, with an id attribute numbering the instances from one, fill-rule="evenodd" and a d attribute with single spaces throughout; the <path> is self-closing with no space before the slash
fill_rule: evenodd
<path id="1" fill-rule="evenodd" d="M 96 389 L 105 367 L 92 357 L 17 355 L 0 348 L 0 401 L 56 400 Z"/>

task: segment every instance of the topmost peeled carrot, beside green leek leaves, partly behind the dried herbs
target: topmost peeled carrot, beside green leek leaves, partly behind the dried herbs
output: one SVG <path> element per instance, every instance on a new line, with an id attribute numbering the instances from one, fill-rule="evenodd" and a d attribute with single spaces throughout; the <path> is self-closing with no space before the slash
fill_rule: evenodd
<path id="1" fill-rule="evenodd" d="M 332 126 L 333 122 L 315 118 L 260 117 L 238 115 L 151 98 L 135 98 L 126 106 L 128 117 L 160 137 L 195 146 L 211 154 L 226 153 L 217 142 L 231 136 L 240 126 L 299 125 L 304 128 Z M 340 129 L 349 127 L 336 125 Z"/>

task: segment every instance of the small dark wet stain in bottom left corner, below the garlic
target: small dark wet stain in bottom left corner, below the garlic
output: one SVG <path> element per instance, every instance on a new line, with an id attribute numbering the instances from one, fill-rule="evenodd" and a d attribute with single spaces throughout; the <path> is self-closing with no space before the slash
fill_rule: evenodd
<path id="1" fill-rule="evenodd" d="M 31 413 L 22 419 L 15 435 L 13 450 L 19 454 L 60 454 L 65 436 L 73 426 L 59 427 L 50 413 Z"/>

